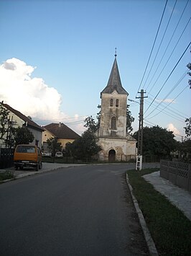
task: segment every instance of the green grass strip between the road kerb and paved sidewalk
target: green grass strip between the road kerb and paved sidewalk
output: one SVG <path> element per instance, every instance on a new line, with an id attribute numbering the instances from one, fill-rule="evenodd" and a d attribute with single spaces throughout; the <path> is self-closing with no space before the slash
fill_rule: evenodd
<path id="1" fill-rule="evenodd" d="M 159 255 L 191 255 L 191 221 L 141 177 L 158 170 L 127 171 L 133 193 Z"/>

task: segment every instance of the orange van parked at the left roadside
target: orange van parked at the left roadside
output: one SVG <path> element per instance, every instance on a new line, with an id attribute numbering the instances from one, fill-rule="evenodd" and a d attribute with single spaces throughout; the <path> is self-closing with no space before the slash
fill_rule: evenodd
<path id="1" fill-rule="evenodd" d="M 27 144 L 17 145 L 14 151 L 14 168 L 33 167 L 42 169 L 42 154 L 38 146 Z"/>

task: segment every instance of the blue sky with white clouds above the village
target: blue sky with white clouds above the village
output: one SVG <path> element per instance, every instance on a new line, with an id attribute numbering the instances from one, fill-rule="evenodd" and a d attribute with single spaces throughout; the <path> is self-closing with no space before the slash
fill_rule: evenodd
<path id="1" fill-rule="evenodd" d="M 39 125 L 77 133 L 95 118 L 115 48 L 129 110 L 139 127 L 185 136 L 191 112 L 191 0 L 0 0 L 0 100 Z"/>

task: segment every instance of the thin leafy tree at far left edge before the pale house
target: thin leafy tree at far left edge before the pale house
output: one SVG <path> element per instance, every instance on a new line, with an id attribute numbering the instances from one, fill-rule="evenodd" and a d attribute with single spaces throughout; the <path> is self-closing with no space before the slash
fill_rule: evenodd
<path id="1" fill-rule="evenodd" d="M 9 110 L 4 107 L 4 102 L 0 102 L 0 139 L 4 141 L 4 136 L 8 128 Z"/>

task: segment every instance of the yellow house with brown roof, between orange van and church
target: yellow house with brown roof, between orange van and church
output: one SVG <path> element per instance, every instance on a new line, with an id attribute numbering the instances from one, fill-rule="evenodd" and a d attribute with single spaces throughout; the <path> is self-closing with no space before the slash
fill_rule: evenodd
<path id="1" fill-rule="evenodd" d="M 78 133 L 67 127 L 64 123 L 50 123 L 45 125 L 45 132 L 42 134 L 42 143 L 44 151 L 47 151 L 47 139 L 57 138 L 57 142 L 61 143 L 62 149 L 65 149 L 65 144 L 73 143 L 76 138 L 80 138 Z"/>

